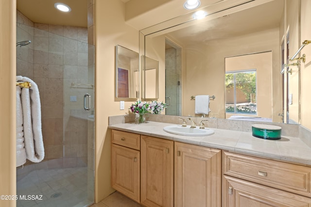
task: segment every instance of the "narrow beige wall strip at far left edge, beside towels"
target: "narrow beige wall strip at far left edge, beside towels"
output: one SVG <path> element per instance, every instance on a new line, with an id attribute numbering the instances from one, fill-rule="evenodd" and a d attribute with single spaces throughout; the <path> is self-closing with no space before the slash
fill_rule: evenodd
<path id="1" fill-rule="evenodd" d="M 16 0 L 0 0 L 0 194 L 16 194 Z M 1 200 L 0 207 L 16 201 Z"/>

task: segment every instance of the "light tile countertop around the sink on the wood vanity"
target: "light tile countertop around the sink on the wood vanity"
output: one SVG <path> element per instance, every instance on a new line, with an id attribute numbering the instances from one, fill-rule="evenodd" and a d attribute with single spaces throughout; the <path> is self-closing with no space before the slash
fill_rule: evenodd
<path id="1" fill-rule="evenodd" d="M 211 128 L 215 133 L 209 136 L 182 136 L 163 131 L 169 125 L 173 124 L 148 121 L 114 124 L 108 128 L 311 166 L 311 148 L 296 137 L 265 140 L 253 137 L 251 132 L 220 128 Z"/>

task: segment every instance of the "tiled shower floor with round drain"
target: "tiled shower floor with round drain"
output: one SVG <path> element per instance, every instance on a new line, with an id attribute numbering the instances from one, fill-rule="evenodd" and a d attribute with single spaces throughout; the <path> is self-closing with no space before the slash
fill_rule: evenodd
<path id="1" fill-rule="evenodd" d="M 17 207 L 73 207 L 87 203 L 87 193 L 86 167 L 35 170 L 17 181 Z"/>

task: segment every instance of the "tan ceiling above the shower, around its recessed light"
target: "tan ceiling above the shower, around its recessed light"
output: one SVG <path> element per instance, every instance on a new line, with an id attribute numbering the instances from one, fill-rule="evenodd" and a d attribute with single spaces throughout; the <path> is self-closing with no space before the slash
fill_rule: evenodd
<path id="1" fill-rule="evenodd" d="M 71 12 L 54 8 L 60 2 L 70 6 Z M 34 23 L 87 27 L 88 0 L 17 0 L 17 10 Z"/>

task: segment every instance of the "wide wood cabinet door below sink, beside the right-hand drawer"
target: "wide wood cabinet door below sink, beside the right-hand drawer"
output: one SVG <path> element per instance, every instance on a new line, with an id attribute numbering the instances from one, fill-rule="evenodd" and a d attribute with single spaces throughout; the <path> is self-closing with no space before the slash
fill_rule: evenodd
<path id="1" fill-rule="evenodd" d="M 175 207 L 220 207 L 221 176 L 221 150 L 175 142 Z"/>

